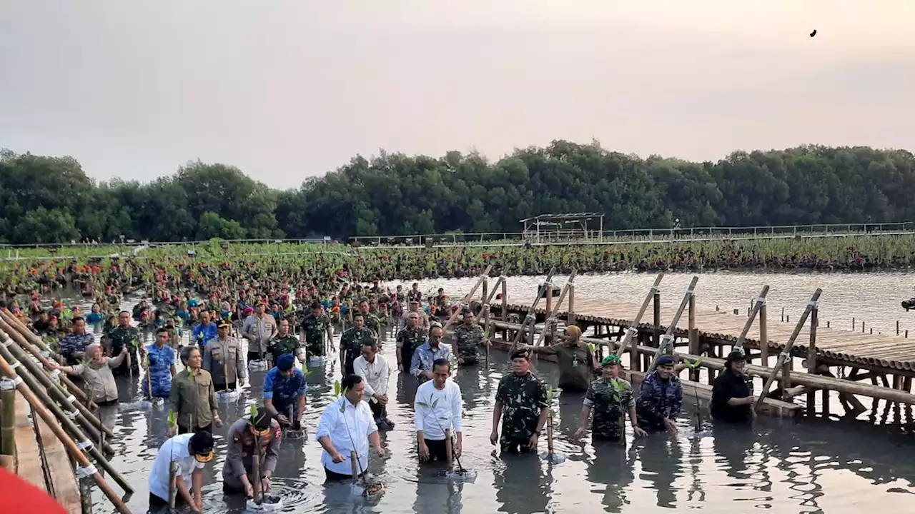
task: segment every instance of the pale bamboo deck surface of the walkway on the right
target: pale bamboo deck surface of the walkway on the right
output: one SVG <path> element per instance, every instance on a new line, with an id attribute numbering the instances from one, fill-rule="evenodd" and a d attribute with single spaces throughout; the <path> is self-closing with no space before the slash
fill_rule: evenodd
<path id="1" fill-rule="evenodd" d="M 678 296 L 680 295 L 678 294 Z M 515 303 L 507 305 L 509 312 L 526 313 L 533 302 L 533 295 L 531 297 L 511 299 Z M 673 298 L 673 300 L 679 302 L 680 298 Z M 676 311 L 676 305 L 670 302 L 672 302 L 670 296 L 666 298 L 666 301 L 662 300 L 662 331 L 667 329 L 666 324 L 670 322 L 673 313 Z M 497 305 L 494 306 L 498 308 Z M 541 301 L 540 305 L 544 305 L 544 302 Z M 576 321 L 590 324 L 630 327 L 631 320 L 635 319 L 639 308 L 640 305 L 626 302 L 576 298 L 574 316 Z M 797 313 L 791 313 L 791 319 L 793 319 L 793 316 L 799 315 L 802 309 L 798 311 Z M 544 308 L 537 309 L 538 315 L 544 315 L 545 312 Z M 565 319 L 567 314 L 564 305 L 558 316 Z M 772 319 L 773 317 L 775 319 Z M 732 312 L 715 311 L 696 305 L 695 328 L 700 337 L 736 341 L 746 323 L 746 312 L 743 315 L 735 315 Z M 686 316 L 683 316 L 676 327 L 676 335 L 678 337 L 686 337 L 687 325 Z M 766 325 L 770 355 L 773 355 L 776 351 L 784 348 L 785 343 L 791 337 L 795 323 L 793 321 L 790 323 L 780 321 L 778 316 L 771 316 L 770 313 Z M 642 317 L 642 323 L 639 324 L 639 327 L 651 328 L 651 307 Z M 759 319 L 754 320 L 752 327 L 750 327 L 747 334 L 747 343 L 750 346 L 759 346 Z M 805 327 L 798 336 L 792 353 L 800 351 L 805 355 L 809 343 L 810 329 Z M 821 322 L 817 327 L 815 346 L 818 356 L 847 362 L 848 365 L 865 364 L 885 369 L 915 370 L 915 341 L 905 337 L 852 332 L 826 327 Z"/>

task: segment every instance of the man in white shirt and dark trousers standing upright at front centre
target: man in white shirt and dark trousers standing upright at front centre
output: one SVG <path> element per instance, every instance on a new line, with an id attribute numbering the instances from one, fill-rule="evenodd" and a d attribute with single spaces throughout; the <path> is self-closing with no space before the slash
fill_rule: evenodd
<path id="1" fill-rule="evenodd" d="M 432 365 L 432 380 L 416 389 L 414 418 L 419 460 L 447 461 L 447 435 L 457 434 L 453 454 L 461 455 L 461 396 L 458 382 L 449 380 L 451 363 L 436 359 Z"/>

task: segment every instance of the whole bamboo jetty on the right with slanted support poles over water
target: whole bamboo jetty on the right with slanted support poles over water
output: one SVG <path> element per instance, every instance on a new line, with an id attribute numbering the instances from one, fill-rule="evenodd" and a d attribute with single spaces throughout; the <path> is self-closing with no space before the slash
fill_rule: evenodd
<path id="1" fill-rule="evenodd" d="M 747 316 L 697 307 L 695 298 L 701 294 L 701 284 L 696 276 L 685 292 L 673 293 L 674 297 L 682 294 L 682 301 L 665 325 L 663 273 L 641 304 L 576 298 L 574 272 L 554 304 L 553 276 L 551 273 L 535 292 L 515 296 L 520 298 L 515 303 L 507 302 L 506 283 L 501 280 L 501 303 L 491 304 L 491 296 L 484 295 L 471 304 L 482 313 L 478 322 L 493 348 L 508 351 L 519 340 L 534 346 L 553 344 L 565 337 L 558 330 L 560 324 L 575 324 L 582 329 L 582 340 L 595 345 L 597 352 L 620 355 L 628 368 L 624 372 L 634 383 L 653 369 L 662 354 L 671 354 L 681 362 L 697 361 L 695 369 L 679 366 L 678 372 L 685 375 L 681 377 L 684 393 L 705 399 L 711 397 L 717 373 L 725 368 L 725 357 L 739 348 L 747 356 L 746 372 L 763 383 L 761 391 L 754 391 L 758 398 L 755 408 L 771 416 L 795 417 L 803 412 L 831 417 L 840 414 L 830 411 L 834 399 L 844 407 L 845 415 L 853 418 L 868 410 L 861 398 L 870 399 L 873 410 L 879 401 L 896 408 L 915 405 L 911 392 L 915 346 L 903 337 L 821 327 L 818 311 L 823 292 L 819 289 L 812 292 L 796 323 L 789 323 L 787 316 L 783 320 L 769 318 L 768 285 L 752 300 Z M 538 306 L 544 299 L 546 305 Z M 642 320 L 650 307 L 651 320 Z M 777 360 L 771 362 L 771 357 Z M 801 369 L 795 369 L 796 364 Z M 705 369 L 707 383 L 700 383 L 699 368 Z M 816 402 L 817 392 L 820 402 Z M 798 397 L 805 397 L 806 402 L 795 402 Z"/>

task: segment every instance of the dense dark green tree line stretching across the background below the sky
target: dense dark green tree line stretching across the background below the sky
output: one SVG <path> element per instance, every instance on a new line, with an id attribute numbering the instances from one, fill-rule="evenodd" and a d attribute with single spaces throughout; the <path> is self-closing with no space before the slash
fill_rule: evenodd
<path id="1" fill-rule="evenodd" d="M 292 185 L 290 185 L 292 186 Z M 915 220 L 915 156 L 802 146 L 690 163 L 564 141 L 480 155 L 354 157 L 278 191 L 233 166 L 189 163 L 149 184 L 96 184 L 70 157 L 0 155 L 0 242 L 194 241 L 521 230 L 551 212 L 605 230 Z"/>

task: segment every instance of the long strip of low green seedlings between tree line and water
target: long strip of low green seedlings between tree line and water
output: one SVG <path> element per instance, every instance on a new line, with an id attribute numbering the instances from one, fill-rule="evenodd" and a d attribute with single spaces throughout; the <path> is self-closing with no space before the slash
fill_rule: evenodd
<path id="1" fill-rule="evenodd" d="M 5 249 L 12 252 L 12 249 Z M 313 280 L 337 276 L 411 281 L 557 273 L 714 272 L 763 273 L 906 271 L 915 266 L 915 234 L 831 238 L 625 242 L 544 246 L 360 248 L 341 243 L 207 243 L 140 246 L 67 246 L 21 249 L 19 260 L 0 262 L 0 285 L 9 293 L 84 287 L 111 279 L 143 286 L 167 277 L 210 282 L 231 276 L 282 282 L 292 274 Z M 69 255 L 58 255 L 67 252 Z"/>

